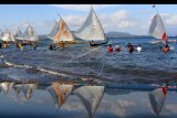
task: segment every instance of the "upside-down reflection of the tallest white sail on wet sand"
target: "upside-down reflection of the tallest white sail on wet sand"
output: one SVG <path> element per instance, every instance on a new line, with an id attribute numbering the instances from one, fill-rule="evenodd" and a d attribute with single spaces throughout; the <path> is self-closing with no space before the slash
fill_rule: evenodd
<path id="1" fill-rule="evenodd" d="M 104 95 L 104 86 L 82 86 L 73 92 L 82 100 L 90 118 L 96 111 Z"/>

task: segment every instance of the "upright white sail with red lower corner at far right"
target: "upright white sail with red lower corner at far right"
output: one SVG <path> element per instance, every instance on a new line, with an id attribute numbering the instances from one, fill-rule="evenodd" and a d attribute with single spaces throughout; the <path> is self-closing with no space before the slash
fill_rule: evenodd
<path id="1" fill-rule="evenodd" d="M 167 42 L 167 33 L 158 13 L 153 18 L 148 33 L 155 39 L 162 39 Z"/>

